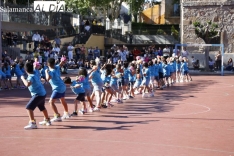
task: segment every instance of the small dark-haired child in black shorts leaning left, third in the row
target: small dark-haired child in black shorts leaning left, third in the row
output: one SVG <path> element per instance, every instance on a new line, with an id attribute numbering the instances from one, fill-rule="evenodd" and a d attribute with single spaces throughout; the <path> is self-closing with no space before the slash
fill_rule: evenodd
<path id="1" fill-rule="evenodd" d="M 85 76 L 81 75 L 78 76 L 76 80 L 71 80 L 70 77 L 65 77 L 63 79 L 63 82 L 70 86 L 72 92 L 77 95 L 75 99 L 75 105 L 74 105 L 74 112 L 72 113 L 72 116 L 77 116 L 78 107 L 77 103 L 80 101 L 82 105 L 82 109 L 79 110 L 79 113 L 85 114 L 86 113 L 86 104 L 85 104 L 85 90 L 83 88 L 82 82 L 85 80 Z"/>

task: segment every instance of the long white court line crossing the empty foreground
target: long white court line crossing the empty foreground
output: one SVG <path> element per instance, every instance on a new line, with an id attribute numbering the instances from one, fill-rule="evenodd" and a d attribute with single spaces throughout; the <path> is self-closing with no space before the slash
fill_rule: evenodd
<path id="1" fill-rule="evenodd" d="M 151 145 L 151 146 L 162 146 L 162 147 L 172 147 L 172 148 L 183 148 L 191 150 L 201 150 L 209 152 L 218 152 L 218 153 L 227 153 L 234 154 L 234 151 L 224 151 L 224 150 L 215 150 L 209 148 L 201 147 L 191 147 L 191 146 L 179 146 L 179 145 L 170 145 L 170 144 L 154 144 L 154 143 L 145 143 L 145 142 L 132 142 L 132 141 L 120 141 L 120 140 L 90 140 L 90 139 L 77 139 L 77 138 L 35 138 L 35 137 L 0 137 L 2 139 L 32 139 L 32 140 L 63 140 L 63 141 L 88 141 L 88 142 L 108 142 L 108 143 L 124 143 L 124 144 L 138 144 L 138 145 Z"/>

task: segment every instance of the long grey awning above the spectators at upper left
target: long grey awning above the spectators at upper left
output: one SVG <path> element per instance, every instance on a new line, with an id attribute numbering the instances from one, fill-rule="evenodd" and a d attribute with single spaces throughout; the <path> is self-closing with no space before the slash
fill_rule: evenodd
<path id="1" fill-rule="evenodd" d="M 55 26 L 2 21 L 2 31 L 4 31 L 4 32 L 7 32 L 7 31 L 23 32 L 23 31 L 47 30 L 47 29 L 55 29 L 55 28 L 56 28 Z"/>

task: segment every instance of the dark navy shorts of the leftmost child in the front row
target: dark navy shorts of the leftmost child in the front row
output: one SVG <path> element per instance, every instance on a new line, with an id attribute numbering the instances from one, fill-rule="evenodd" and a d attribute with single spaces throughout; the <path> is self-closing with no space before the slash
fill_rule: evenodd
<path id="1" fill-rule="evenodd" d="M 33 110 L 38 107 L 40 111 L 45 110 L 45 96 L 34 95 L 26 105 L 26 109 Z"/>

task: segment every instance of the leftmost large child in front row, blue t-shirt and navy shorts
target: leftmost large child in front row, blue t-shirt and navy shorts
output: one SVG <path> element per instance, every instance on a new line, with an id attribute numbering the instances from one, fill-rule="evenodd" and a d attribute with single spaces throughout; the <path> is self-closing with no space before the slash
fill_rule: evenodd
<path id="1" fill-rule="evenodd" d="M 42 111 L 44 115 L 44 121 L 39 122 L 40 125 L 51 125 L 50 118 L 48 116 L 48 112 L 45 108 L 45 98 L 46 98 L 46 91 L 44 86 L 42 85 L 39 78 L 34 74 L 33 71 L 33 64 L 31 62 L 28 62 L 25 64 L 25 70 L 28 74 L 27 80 L 24 78 L 24 76 L 21 76 L 21 80 L 23 81 L 24 85 L 28 87 L 28 90 L 31 93 L 31 100 L 26 105 L 26 109 L 29 114 L 29 124 L 25 126 L 25 129 L 36 129 L 36 120 L 34 118 L 34 109 L 36 107 L 39 108 L 40 111 Z"/>

